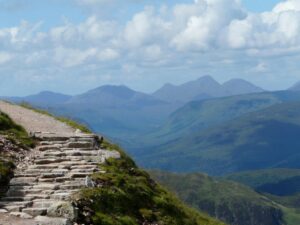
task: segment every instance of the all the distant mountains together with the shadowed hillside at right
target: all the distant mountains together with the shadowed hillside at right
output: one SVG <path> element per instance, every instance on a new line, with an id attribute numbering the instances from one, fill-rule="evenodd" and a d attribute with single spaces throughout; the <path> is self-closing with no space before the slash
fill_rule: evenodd
<path id="1" fill-rule="evenodd" d="M 180 86 L 167 85 L 153 95 L 106 85 L 76 96 L 42 92 L 8 99 L 86 123 L 121 143 L 147 168 L 222 175 L 300 167 L 296 86 L 262 92 L 243 80 L 221 85 L 205 76 Z M 199 96 L 209 99 L 196 101 Z M 194 100 L 182 105 L 187 99 Z M 287 137 L 280 135 L 283 130 Z"/>

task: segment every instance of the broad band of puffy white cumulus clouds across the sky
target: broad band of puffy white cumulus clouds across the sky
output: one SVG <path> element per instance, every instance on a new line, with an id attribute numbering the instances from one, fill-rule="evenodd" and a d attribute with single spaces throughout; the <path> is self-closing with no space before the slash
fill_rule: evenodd
<path id="1" fill-rule="evenodd" d="M 120 2 L 74 1 L 98 8 Z M 298 0 L 283 1 L 263 13 L 247 11 L 240 0 L 195 0 L 161 7 L 150 3 L 126 21 L 103 19 L 91 11 L 80 23 L 64 21 L 49 30 L 41 29 L 40 21 L 21 21 L 0 28 L 0 64 L 76 72 L 82 67 L 84 74 L 105 67 L 133 76 L 145 72 L 143 66 L 198 68 L 245 59 L 252 60 L 252 72 L 265 72 L 269 64 L 254 62 L 256 58 L 300 52 L 299 21 Z M 103 74 L 113 77 L 111 71 Z"/>

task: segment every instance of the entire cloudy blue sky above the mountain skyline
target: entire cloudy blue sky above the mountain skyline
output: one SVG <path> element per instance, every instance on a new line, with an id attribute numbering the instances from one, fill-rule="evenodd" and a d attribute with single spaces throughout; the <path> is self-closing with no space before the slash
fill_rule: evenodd
<path id="1" fill-rule="evenodd" d="M 0 0 L 0 96 L 300 81 L 300 0 Z"/>

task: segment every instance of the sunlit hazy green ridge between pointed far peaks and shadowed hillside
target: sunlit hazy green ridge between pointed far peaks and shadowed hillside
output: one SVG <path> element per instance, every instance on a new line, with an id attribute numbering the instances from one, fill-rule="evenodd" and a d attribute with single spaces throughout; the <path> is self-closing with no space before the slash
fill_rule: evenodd
<path id="1" fill-rule="evenodd" d="M 165 144 L 247 113 L 293 101 L 300 101 L 300 92 L 264 92 L 189 102 L 172 113 L 160 128 L 135 141 L 136 151 L 140 151 L 141 146 Z M 134 144 L 127 146 L 133 153 Z"/>

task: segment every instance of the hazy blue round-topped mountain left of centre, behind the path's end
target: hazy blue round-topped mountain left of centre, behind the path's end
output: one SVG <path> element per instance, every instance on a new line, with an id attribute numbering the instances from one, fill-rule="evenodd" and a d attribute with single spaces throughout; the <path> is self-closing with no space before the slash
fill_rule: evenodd
<path id="1" fill-rule="evenodd" d="M 131 134 L 152 130 L 178 106 L 125 86 L 102 86 L 72 97 L 51 110 L 76 115 L 94 131 L 126 140 Z"/>

